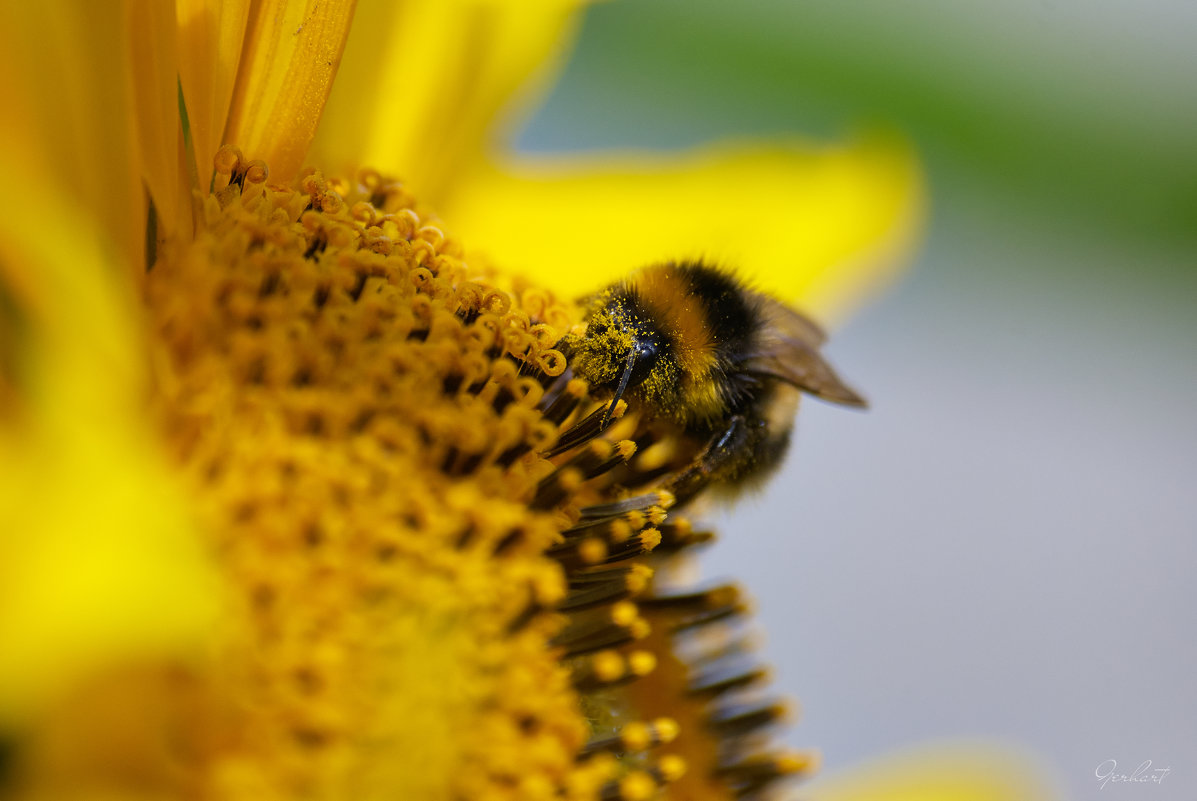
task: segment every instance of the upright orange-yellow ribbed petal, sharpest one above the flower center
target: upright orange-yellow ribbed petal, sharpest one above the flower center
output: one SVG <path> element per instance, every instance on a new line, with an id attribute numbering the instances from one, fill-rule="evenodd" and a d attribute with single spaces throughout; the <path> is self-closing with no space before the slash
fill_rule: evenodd
<path id="1" fill-rule="evenodd" d="M 354 0 L 261 0 L 250 10 L 225 142 L 278 181 L 303 166 L 350 32 Z"/>

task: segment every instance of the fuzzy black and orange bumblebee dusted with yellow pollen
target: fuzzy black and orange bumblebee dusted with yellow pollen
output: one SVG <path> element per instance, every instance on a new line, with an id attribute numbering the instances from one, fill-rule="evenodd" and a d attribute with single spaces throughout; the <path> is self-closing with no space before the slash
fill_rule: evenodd
<path id="1" fill-rule="evenodd" d="M 707 485 L 739 487 L 774 469 L 798 394 L 864 407 L 819 354 L 810 320 L 703 262 L 642 269 L 590 299 L 566 338 L 573 374 L 600 399 L 602 426 L 626 398 L 644 420 L 680 433 L 693 459 L 664 480 L 679 503 Z"/>

